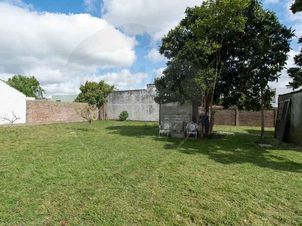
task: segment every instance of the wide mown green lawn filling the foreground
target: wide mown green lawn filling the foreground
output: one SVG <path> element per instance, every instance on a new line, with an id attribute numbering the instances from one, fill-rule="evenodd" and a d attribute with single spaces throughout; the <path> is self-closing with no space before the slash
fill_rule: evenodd
<path id="1" fill-rule="evenodd" d="M 0 127 L 0 225 L 299 225 L 302 153 L 140 122 Z M 70 134 L 75 132 L 75 134 Z"/>

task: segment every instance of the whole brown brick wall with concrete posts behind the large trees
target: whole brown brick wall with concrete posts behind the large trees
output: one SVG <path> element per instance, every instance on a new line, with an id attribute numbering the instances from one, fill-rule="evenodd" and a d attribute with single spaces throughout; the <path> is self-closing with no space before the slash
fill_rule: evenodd
<path id="1" fill-rule="evenodd" d="M 276 109 L 264 110 L 265 127 L 275 127 Z M 261 112 L 258 111 L 239 111 L 238 108 L 216 108 L 215 111 L 215 125 L 261 126 Z"/>

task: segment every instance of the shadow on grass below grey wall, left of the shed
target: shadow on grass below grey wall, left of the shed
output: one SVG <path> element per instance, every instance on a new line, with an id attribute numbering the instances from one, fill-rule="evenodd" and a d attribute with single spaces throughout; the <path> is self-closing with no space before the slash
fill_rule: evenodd
<path id="1" fill-rule="evenodd" d="M 121 136 L 128 137 L 142 137 L 142 136 L 154 136 L 158 134 L 158 126 L 141 125 L 141 126 L 111 126 L 107 127 L 111 134 L 119 134 Z"/>

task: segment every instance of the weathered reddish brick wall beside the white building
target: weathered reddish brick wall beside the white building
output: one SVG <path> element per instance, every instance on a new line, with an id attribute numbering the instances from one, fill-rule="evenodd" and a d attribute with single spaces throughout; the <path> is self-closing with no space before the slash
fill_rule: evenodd
<path id="1" fill-rule="evenodd" d="M 86 105 L 86 103 L 27 100 L 26 124 L 37 125 L 83 121 L 84 119 L 74 111 L 76 107 L 81 105 Z"/>

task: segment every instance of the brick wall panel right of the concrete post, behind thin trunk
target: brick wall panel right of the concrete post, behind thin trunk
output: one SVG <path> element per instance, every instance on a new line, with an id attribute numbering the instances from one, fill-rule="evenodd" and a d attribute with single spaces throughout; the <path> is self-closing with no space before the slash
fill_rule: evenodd
<path id="1" fill-rule="evenodd" d="M 261 126 L 261 112 L 239 111 L 240 126 Z M 265 127 L 275 127 L 275 109 L 264 111 Z"/>

